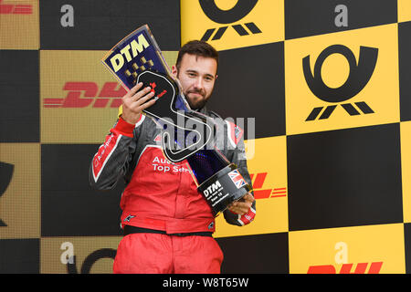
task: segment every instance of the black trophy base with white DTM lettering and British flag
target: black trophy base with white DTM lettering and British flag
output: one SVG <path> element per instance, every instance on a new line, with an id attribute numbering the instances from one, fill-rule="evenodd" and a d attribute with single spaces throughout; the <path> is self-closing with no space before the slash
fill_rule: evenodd
<path id="1" fill-rule="evenodd" d="M 251 191 L 251 186 L 238 172 L 236 164 L 231 163 L 201 183 L 197 189 L 203 193 L 214 216 L 217 216 L 227 209 L 228 204 Z"/>

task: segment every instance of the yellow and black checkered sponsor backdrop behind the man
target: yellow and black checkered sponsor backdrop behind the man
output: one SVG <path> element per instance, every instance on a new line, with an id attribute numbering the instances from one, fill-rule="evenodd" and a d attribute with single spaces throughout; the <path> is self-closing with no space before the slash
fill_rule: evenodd
<path id="1" fill-rule="evenodd" d="M 411 272 L 408 0 L 2 0 L 1 273 L 111 273 L 123 184 L 88 169 L 124 90 L 100 60 L 144 24 L 170 66 L 215 46 L 209 108 L 246 120 L 258 213 L 217 217 L 223 273 Z"/>

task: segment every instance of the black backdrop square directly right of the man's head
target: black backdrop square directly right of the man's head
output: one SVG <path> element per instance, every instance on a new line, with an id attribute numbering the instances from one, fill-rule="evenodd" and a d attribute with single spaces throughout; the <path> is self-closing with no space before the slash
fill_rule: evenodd
<path id="1" fill-rule="evenodd" d="M 284 43 L 219 52 L 218 78 L 207 108 L 223 118 L 256 118 L 256 138 L 285 134 Z"/>

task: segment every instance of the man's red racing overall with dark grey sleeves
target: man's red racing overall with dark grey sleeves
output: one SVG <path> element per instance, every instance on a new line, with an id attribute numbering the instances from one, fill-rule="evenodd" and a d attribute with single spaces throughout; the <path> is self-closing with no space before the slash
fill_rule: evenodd
<path id="1" fill-rule="evenodd" d="M 222 153 L 237 164 L 244 179 L 247 170 L 242 130 L 219 119 L 227 141 Z M 238 134 L 239 133 L 239 134 Z M 196 189 L 188 163 L 168 162 L 163 156 L 161 130 L 142 115 L 136 125 L 117 121 L 90 165 L 90 184 L 111 189 L 124 179 L 121 195 L 121 239 L 114 260 L 114 273 L 219 273 L 223 253 L 211 236 L 215 219 Z M 228 224 L 250 223 L 255 202 L 242 216 L 226 210 Z"/>

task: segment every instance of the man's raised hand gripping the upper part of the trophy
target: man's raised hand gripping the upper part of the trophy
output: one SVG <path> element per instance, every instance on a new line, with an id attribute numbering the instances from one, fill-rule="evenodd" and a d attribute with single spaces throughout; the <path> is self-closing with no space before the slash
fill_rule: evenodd
<path id="1" fill-rule="evenodd" d="M 140 89 L 142 89 L 142 82 L 138 83 L 122 97 L 121 118 L 131 124 L 135 124 L 140 120 L 142 110 L 151 107 L 155 103 L 155 99 L 152 99 L 154 92 L 151 92 L 150 87 L 146 87 L 142 90 Z M 148 99 L 152 100 L 147 101 Z"/>

